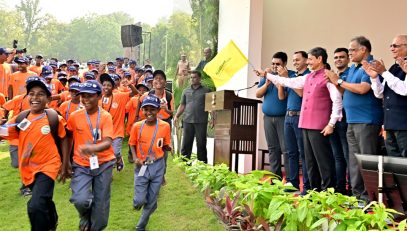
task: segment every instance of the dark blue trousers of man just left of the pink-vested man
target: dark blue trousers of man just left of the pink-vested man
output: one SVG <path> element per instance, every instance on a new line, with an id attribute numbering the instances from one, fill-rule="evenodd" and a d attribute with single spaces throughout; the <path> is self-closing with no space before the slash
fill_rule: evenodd
<path id="1" fill-rule="evenodd" d="M 304 191 L 310 189 L 307 165 L 305 164 L 304 156 L 304 141 L 302 138 L 302 129 L 298 127 L 300 117 L 286 116 L 284 122 L 284 137 L 285 137 L 285 147 L 288 155 L 289 169 L 290 169 L 290 182 L 297 189 L 300 188 L 300 177 L 299 177 L 299 160 L 301 157 L 302 162 L 302 176 Z"/>

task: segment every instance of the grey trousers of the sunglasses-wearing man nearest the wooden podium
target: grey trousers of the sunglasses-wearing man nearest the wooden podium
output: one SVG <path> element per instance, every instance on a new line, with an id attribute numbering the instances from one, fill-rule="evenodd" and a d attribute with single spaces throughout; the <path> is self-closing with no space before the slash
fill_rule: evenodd
<path id="1" fill-rule="evenodd" d="M 285 116 L 264 115 L 264 133 L 269 150 L 270 171 L 280 177 L 283 175 L 281 171 L 281 154 L 284 154 L 285 173 L 287 181 L 290 181 L 288 155 L 285 151 L 284 141 L 284 120 Z"/>

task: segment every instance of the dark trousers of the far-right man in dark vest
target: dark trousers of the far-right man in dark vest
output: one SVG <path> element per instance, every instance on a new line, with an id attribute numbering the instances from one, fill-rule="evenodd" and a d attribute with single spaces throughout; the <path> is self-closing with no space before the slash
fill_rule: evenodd
<path id="1" fill-rule="evenodd" d="M 389 156 L 407 157 L 407 131 L 386 131 L 386 150 Z"/>

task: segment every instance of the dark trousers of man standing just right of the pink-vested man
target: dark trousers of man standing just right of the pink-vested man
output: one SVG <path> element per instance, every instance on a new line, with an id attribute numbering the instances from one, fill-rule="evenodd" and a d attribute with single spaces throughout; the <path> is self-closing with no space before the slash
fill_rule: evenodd
<path id="1" fill-rule="evenodd" d="M 346 194 L 346 167 L 349 162 L 347 128 L 348 124 L 345 121 L 337 122 L 334 133 L 329 137 L 335 158 L 336 190 L 342 194 Z"/>

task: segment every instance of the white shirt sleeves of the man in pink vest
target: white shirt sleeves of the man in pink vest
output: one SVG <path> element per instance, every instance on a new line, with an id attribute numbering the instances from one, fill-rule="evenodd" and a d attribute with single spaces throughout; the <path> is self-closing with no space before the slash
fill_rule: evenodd
<path id="1" fill-rule="evenodd" d="M 266 78 L 273 84 L 280 84 L 282 86 L 294 89 L 303 89 L 307 76 L 308 74 L 296 78 L 287 78 L 267 73 Z M 340 91 L 338 91 L 336 86 L 330 82 L 326 84 L 326 87 L 329 91 L 329 97 L 332 100 L 332 113 L 329 123 L 335 124 L 337 121 L 342 120 L 342 94 Z"/>

